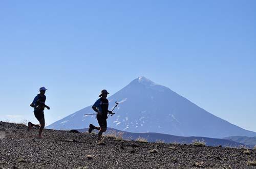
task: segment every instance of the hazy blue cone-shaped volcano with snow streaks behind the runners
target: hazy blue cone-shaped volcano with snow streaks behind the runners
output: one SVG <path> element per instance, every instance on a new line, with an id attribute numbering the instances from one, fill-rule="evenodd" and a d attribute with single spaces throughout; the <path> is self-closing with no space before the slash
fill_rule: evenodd
<path id="1" fill-rule="evenodd" d="M 109 109 L 119 102 L 108 127 L 127 132 L 155 132 L 179 136 L 223 138 L 256 136 L 255 132 L 214 116 L 167 87 L 138 77 L 109 98 Z M 81 129 L 97 124 L 92 105 L 49 125 L 49 129 Z"/>

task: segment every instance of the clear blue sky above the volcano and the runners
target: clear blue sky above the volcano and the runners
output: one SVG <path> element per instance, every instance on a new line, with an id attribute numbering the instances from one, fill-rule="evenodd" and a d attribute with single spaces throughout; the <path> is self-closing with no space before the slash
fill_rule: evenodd
<path id="1" fill-rule="evenodd" d="M 145 76 L 256 131 L 256 1 L 1 1 L 0 119 L 49 125 Z"/>

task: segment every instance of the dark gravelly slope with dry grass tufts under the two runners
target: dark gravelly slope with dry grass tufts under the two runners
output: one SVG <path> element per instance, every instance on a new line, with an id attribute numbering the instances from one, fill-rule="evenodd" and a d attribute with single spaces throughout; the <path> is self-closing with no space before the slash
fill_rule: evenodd
<path id="1" fill-rule="evenodd" d="M 0 168 L 256 168 L 256 150 L 142 143 L 0 122 Z"/>

